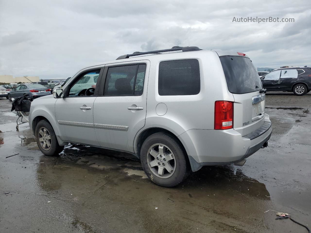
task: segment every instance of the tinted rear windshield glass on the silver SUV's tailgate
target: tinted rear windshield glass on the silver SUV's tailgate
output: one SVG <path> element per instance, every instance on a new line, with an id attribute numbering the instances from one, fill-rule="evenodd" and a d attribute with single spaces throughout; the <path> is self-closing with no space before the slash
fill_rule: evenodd
<path id="1" fill-rule="evenodd" d="M 262 89 L 261 80 L 247 57 L 219 57 L 225 73 L 228 90 L 233 94 L 244 94 Z"/>

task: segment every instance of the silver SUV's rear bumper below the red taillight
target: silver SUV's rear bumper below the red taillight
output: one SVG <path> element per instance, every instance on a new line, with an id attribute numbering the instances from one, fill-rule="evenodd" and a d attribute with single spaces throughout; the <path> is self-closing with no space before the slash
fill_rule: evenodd
<path id="1" fill-rule="evenodd" d="M 269 127 L 252 139 L 242 136 L 234 129 L 230 130 L 188 130 L 179 135 L 188 154 L 192 171 L 203 166 L 226 165 L 238 162 L 258 151 L 270 139 L 272 126 L 269 116 L 265 114 Z M 265 123 L 266 124 L 266 123 Z"/>

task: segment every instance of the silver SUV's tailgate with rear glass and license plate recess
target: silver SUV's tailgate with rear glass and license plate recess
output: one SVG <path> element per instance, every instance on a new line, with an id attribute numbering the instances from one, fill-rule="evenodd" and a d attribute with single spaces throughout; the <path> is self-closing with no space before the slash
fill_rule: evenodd
<path id="1" fill-rule="evenodd" d="M 242 136 L 264 124 L 265 94 L 260 93 L 262 83 L 248 57 L 222 56 L 228 90 L 234 96 L 233 128 Z"/>

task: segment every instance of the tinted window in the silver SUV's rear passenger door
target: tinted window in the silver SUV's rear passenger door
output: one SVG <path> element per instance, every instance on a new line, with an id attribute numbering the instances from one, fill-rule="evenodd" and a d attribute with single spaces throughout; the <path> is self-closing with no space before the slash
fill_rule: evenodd
<path id="1" fill-rule="evenodd" d="M 104 95 L 142 95 L 146 65 L 109 67 Z"/>

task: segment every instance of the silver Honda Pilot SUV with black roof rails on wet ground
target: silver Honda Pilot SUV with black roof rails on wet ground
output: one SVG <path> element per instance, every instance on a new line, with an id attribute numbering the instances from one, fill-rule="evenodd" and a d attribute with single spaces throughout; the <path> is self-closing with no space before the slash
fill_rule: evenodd
<path id="1" fill-rule="evenodd" d="M 45 155 L 68 142 L 132 153 L 165 187 L 202 166 L 242 166 L 272 133 L 249 57 L 198 47 L 135 52 L 82 69 L 32 102 L 29 124 Z"/>

